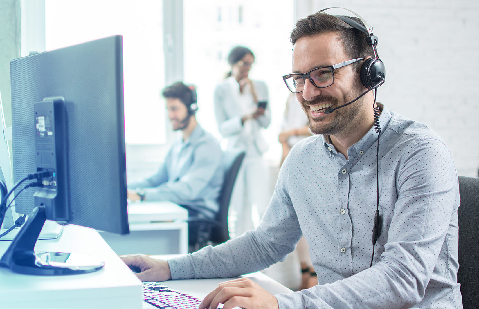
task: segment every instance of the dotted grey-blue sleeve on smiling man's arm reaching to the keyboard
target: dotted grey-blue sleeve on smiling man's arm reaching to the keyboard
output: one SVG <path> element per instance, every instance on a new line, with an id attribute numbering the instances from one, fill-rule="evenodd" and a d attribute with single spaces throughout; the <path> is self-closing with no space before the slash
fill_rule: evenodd
<path id="1" fill-rule="evenodd" d="M 422 300 L 442 247 L 454 248 L 447 232 L 459 205 L 458 183 L 447 147 L 430 139 L 405 150 L 396 186 L 380 261 L 332 284 L 276 295 L 280 309 L 410 308 Z"/>

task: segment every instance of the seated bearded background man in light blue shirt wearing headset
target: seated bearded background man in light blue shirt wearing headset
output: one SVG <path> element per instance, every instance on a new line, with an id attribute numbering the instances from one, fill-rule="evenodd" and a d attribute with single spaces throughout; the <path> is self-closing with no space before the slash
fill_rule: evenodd
<path id="1" fill-rule="evenodd" d="M 156 174 L 128 185 L 128 199 L 197 206 L 212 218 L 218 211 L 217 199 L 223 183 L 219 143 L 196 122 L 198 107 L 193 87 L 175 82 L 162 95 L 171 126 L 175 131 L 181 130 L 182 137 L 171 146 Z"/>

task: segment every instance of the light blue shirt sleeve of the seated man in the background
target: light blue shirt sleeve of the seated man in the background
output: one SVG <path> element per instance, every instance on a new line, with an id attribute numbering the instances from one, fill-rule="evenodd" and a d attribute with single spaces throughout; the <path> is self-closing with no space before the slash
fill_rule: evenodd
<path id="1" fill-rule="evenodd" d="M 165 200 L 186 204 L 200 198 L 221 164 L 221 149 L 216 143 L 201 142 L 194 149 L 193 164 L 179 180 L 147 189 L 145 200 Z"/>

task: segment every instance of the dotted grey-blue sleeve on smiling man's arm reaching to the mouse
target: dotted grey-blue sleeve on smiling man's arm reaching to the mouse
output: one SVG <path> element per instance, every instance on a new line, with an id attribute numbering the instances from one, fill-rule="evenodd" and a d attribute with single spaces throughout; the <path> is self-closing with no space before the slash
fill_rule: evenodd
<path id="1" fill-rule="evenodd" d="M 282 168 L 281 171 L 284 169 Z M 228 278 L 263 270 L 284 261 L 301 238 L 296 212 L 280 172 L 270 206 L 257 229 L 215 247 L 168 260 L 172 279 Z"/>

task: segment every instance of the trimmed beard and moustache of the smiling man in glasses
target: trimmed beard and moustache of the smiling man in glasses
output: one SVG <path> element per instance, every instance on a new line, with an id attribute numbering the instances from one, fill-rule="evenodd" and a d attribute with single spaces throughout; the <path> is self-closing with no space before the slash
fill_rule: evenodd
<path id="1" fill-rule="evenodd" d="M 342 97 L 342 102 L 340 102 L 337 98 L 331 95 L 320 94 L 319 96 L 315 97 L 313 101 L 306 101 L 303 100 L 301 106 L 303 107 L 306 115 L 308 116 L 309 121 L 309 129 L 314 134 L 330 134 L 330 135 L 337 135 L 341 133 L 344 128 L 351 124 L 354 118 L 360 113 L 360 105 L 362 100 L 358 100 L 354 103 L 351 103 L 347 106 L 344 106 L 340 109 L 335 110 L 334 117 L 331 121 L 327 124 L 315 122 L 310 114 L 309 105 L 316 105 L 319 103 L 326 103 L 331 102 L 331 107 L 338 107 L 342 104 L 348 103 L 353 101 L 361 94 L 361 89 L 356 88 L 354 92 L 349 92 L 347 95 Z M 320 120 L 321 118 L 326 117 L 326 115 L 319 116 L 316 119 Z"/>

